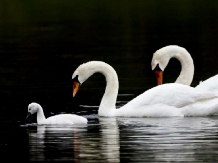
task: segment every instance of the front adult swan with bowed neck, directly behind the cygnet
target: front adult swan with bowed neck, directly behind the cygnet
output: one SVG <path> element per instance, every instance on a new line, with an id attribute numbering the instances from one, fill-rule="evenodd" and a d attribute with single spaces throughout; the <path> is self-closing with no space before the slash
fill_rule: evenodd
<path id="1" fill-rule="evenodd" d="M 209 116 L 218 112 L 218 97 L 190 86 L 169 83 L 151 88 L 126 105 L 116 109 L 119 82 L 116 71 L 102 61 L 81 64 L 73 73 L 73 97 L 79 87 L 94 73 L 106 79 L 106 89 L 98 109 L 99 116 L 172 117 Z"/>

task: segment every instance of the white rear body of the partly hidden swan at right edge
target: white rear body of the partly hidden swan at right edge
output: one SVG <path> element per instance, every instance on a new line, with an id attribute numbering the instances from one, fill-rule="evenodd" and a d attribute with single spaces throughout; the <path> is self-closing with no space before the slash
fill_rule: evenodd
<path id="1" fill-rule="evenodd" d="M 218 75 L 215 75 L 195 87 L 197 90 L 208 91 L 218 95 Z"/>

